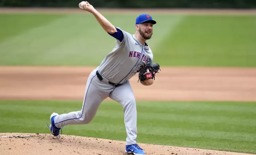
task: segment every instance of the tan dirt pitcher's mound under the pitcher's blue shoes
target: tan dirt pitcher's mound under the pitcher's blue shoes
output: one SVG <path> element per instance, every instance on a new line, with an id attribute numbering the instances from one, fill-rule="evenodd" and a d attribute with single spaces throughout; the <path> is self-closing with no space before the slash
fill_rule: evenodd
<path id="1" fill-rule="evenodd" d="M 1 155 L 128 155 L 125 142 L 51 134 L 0 133 Z M 245 155 L 224 151 L 139 144 L 147 155 Z M 248 155 L 248 154 L 247 154 Z"/>

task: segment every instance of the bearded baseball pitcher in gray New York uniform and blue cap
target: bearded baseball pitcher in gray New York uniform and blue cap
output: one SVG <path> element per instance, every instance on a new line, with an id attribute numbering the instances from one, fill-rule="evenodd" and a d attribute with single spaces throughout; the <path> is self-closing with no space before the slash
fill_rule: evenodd
<path id="1" fill-rule="evenodd" d="M 88 124 L 95 117 L 101 102 L 109 97 L 123 106 L 127 132 L 125 151 L 144 155 L 145 151 L 136 144 L 136 100 L 129 79 L 138 73 L 142 85 L 152 85 L 155 74 L 160 70 L 159 64 L 153 63 L 152 51 L 146 43 L 153 34 L 156 21 L 148 14 L 141 14 L 136 18 L 135 34 L 130 34 L 112 25 L 87 1 L 81 2 L 79 8 L 91 13 L 107 34 L 115 38 L 116 45 L 89 75 L 81 110 L 61 115 L 52 113 L 48 126 L 50 132 L 59 136 L 66 125 Z"/>

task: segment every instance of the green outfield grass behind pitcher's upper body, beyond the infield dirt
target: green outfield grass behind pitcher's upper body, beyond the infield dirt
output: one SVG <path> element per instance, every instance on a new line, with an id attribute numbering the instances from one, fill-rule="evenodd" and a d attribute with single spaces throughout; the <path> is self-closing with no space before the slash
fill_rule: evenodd
<path id="1" fill-rule="evenodd" d="M 104 14 L 133 34 L 136 14 Z M 149 45 L 161 66 L 256 66 L 256 15 L 161 15 Z M 0 14 L 0 65 L 99 65 L 115 40 L 89 13 Z"/>

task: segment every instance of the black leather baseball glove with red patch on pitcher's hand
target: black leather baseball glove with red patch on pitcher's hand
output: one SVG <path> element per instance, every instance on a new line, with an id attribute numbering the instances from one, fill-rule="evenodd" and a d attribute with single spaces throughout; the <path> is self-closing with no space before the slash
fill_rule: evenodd
<path id="1" fill-rule="evenodd" d="M 147 70 L 149 70 L 149 72 L 145 74 Z M 144 81 L 145 79 L 155 80 L 155 74 L 159 73 L 158 70 L 160 70 L 160 66 L 158 63 L 151 63 L 149 65 L 146 65 L 144 68 L 140 70 L 138 82 L 139 80 Z"/>

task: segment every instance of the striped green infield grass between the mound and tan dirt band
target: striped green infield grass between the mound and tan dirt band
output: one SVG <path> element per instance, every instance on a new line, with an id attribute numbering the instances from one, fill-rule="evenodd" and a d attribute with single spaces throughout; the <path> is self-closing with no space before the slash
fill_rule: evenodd
<path id="1" fill-rule="evenodd" d="M 0 132 L 49 133 L 52 112 L 81 110 L 80 101 L 0 101 Z M 256 153 L 255 102 L 138 102 L 138 142 Z M 125 141 L 122 106 L 105 101 L 93 121 L 63 134 Z"/>

